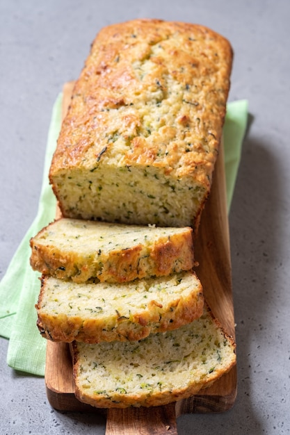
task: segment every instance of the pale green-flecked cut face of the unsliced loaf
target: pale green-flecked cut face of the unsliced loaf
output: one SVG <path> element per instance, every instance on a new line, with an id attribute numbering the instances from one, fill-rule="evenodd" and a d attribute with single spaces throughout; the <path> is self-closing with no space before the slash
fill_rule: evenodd
<path id="1" fill-rule="evenodd" d="M 190 177 L 174 179 L 152 167 L 113 167 L 94 173 L 70 168 L 54 176 L 64 217 L 159 227 L 195 227 L 208 189 Z"/>

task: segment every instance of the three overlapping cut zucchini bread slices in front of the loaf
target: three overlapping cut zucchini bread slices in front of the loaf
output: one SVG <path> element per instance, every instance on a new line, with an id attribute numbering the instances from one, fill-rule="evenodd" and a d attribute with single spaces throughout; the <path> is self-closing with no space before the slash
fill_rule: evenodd
<path id="1" fill-rule="evenodd" d="M 31 238 L 31 249 L 42 272 L 38 328 L 72 343 L 82 402 L 166 404 L 234 365 L 234 341 L 193 272 L 191 228 L 61 218 Z"/>

